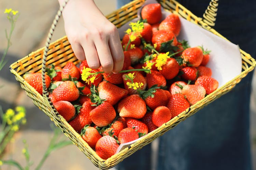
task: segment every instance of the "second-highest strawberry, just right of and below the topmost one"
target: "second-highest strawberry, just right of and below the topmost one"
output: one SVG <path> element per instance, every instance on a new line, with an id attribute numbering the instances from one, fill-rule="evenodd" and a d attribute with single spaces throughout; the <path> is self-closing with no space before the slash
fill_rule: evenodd
<path id="1" fill-rule="evenodd" d="M 175 36 L 180 34 L 181 21 L 178 15 L 170 14 L 168 15 L 160 24 L 159 30 L 171 31 Z"/>

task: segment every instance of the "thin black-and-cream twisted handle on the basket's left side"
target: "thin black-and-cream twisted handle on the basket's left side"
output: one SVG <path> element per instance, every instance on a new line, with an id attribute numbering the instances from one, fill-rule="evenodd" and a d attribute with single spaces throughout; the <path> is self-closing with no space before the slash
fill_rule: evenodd
<path id="1" fill-rule="evenodd" d="M 65 2 L 63 3 L 63 5 L 60 5 L 59 10 L 55 16 L 55 19 L 53 20 L 52 26 L 50 28 L 50 31 L 48 33 L 48 37 L 45 43 L 45 48 L 44 48 L 44 53 L 43 53 L 43 61 L 42 61 L 42 85 L 43 85 L 43 97 L 47 99 L 48 103 L 50 104 L 50 106 L 52 107 L 55 115 L 59 115 L 59 113 L 57 112 L 57 110 L 55 109 L 55 107 L 53 106 L 53 102 L 51 101 L 51 99 L 49 98 L 49 92 L 47 90 L 46 87 L 46 83 L 45 83 L 45 72 L 46 72 L 46 57 L 47 57 L 47 52 L 49 50 L 49 45 L 53 36 L 53 32 L 56 28 L 57 22 L 60 19 L 60 16 L 62 14 L 62 11 L 64 9 L 64 7 L 66 6 L 68 0 L 65 0 Z"/>

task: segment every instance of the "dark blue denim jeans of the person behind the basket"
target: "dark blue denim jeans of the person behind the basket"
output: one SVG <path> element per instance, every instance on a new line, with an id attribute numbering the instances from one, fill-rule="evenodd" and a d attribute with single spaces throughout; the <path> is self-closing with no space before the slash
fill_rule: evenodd
<path id="1" fill-rule="evenodd" d="M 179 1 L 179 0 L 178 0 Z M 119 1 L 128 3 L 129 1 Z M 210 0 L 180 0 L 202 17 Z M 219 1 L 216 31 L 256 56 L 256 1 Z M 230 92 L 159 137 L 158 170 L 251 170 L 249 105 L 253 72 Z M 124 159 L 117 169 L 151 169 L 150 145 Z"/>

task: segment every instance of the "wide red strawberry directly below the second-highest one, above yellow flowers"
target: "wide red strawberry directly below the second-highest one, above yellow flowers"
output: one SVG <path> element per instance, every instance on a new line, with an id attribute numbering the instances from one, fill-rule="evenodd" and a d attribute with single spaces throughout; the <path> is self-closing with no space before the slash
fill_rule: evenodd
<path id="1" fill-rule="evenodd" d="M 173 39 L 173 41 L 172 41 L 171 45 L 177 46 L 177 43 L 178 43 L 177 38 L 172 32 L 168 32 L 166 30 L 159 30 L 153 34 L 152 44 L 157 44 L 156 50 L 159 51 L 162 43 L 165 43 L 172 39 Z"/>

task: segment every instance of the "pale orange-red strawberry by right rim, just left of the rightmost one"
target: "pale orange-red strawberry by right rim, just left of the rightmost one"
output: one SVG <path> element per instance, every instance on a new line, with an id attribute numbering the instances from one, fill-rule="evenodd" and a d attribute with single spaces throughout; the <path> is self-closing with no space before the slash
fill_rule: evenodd
<path id="1" fill-rule="evenodd" d="M 182 94 L 191 105 L 194 105 L 205 97 L 206 91 L 202 86 L 187 84 L 183 87 Z"/>

